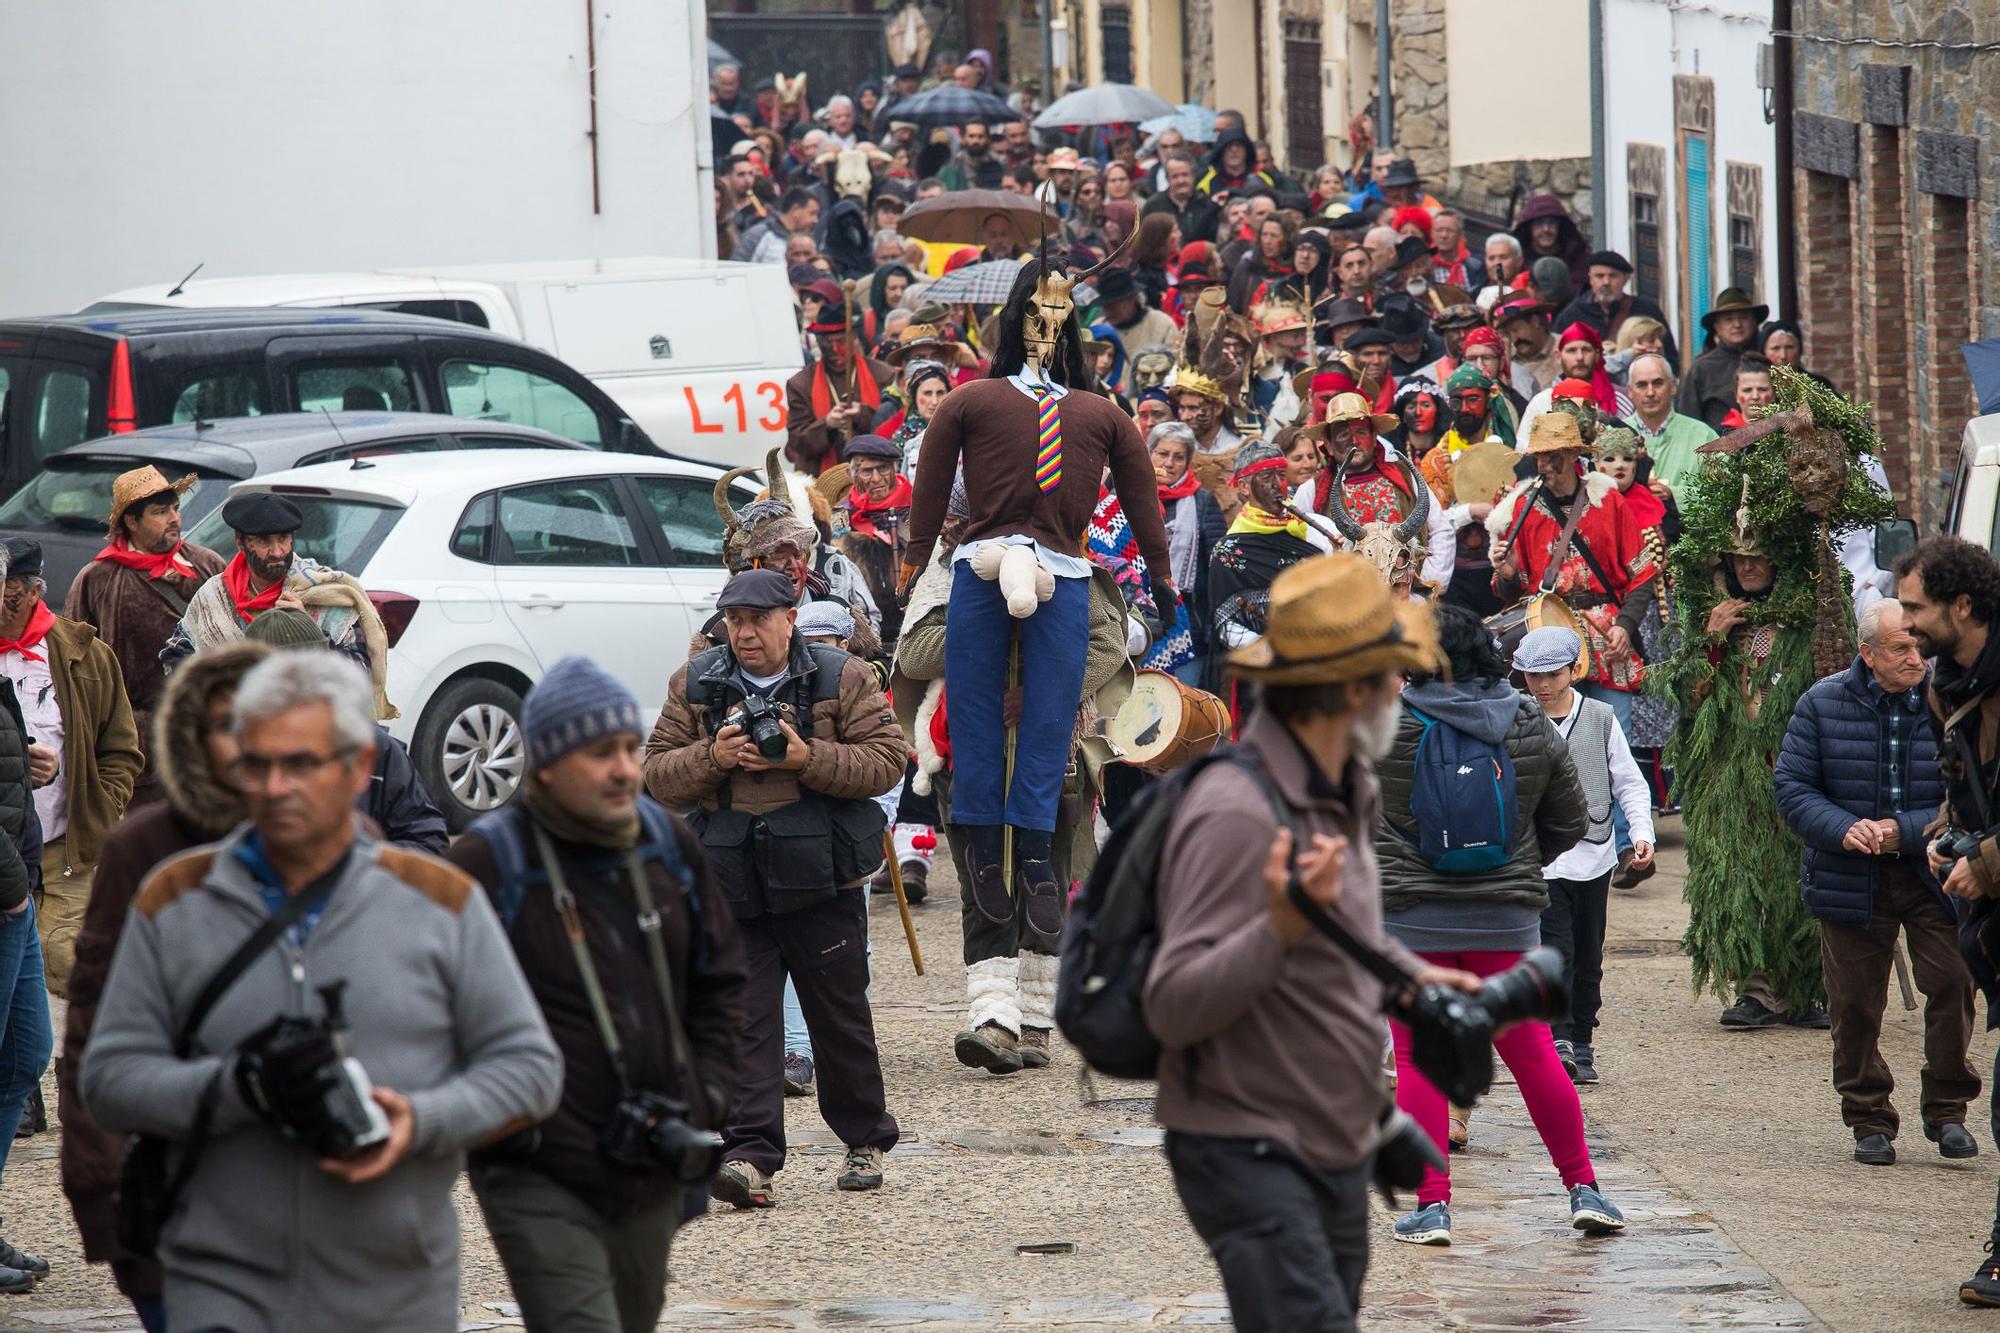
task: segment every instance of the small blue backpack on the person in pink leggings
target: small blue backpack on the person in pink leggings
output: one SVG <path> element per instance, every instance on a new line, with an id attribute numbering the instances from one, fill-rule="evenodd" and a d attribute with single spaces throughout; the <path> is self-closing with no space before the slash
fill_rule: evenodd
<path id="1" fill-rule="evenodd" d="M 1480 741 L 1426 717 L 1410 775 L 1410 819 L 1424 863 L 1444 875 L 1486 875 L 1514 857 L 1514 761 L 1504 743 Z"/>

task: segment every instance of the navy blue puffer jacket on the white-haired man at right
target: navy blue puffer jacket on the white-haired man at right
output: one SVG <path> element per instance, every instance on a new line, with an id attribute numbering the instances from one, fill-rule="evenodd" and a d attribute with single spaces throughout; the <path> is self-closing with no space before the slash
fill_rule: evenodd
<path id="1" fill-rule="evenodd" d="M 1904 715 L 1904 747 L 1894 759 L 1886 721 L 1892 711 Z M 1898 781 L 1902 799 L 1894 801 L 1890 785 Z M 1792 709 L 1774 787 L 1784 823 L 1806 845 L 1802 893 L 1814 917 L 1852 927 L 1874 921 L 1884 859 L 1842 847 L 1860 819 L 1896 821 L 1896 859 L 1950 911 L 1924 859 L 1924 829 L 1944 803 L 1938 739 L 1924 719 L 1924 685 L 1878 703 L 1868 664 L 1858 656 L 1846 671 L 1814 685 Z"/>

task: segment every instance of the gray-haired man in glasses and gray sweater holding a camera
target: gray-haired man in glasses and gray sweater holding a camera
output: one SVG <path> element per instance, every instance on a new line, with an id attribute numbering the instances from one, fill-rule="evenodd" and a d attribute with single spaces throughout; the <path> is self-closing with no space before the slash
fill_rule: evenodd
<path id="1" fill-rule="evenodd" d="M 140 1135 L 120 1241 L 174 1329 L 456 1327 L 464 1151 L 554 1111 L 562 1057 L 478 885 L 358 831 L 364 671 L 274 654 L 232 731 L 250 823 L 140 885 L 84 1047 Z"/>

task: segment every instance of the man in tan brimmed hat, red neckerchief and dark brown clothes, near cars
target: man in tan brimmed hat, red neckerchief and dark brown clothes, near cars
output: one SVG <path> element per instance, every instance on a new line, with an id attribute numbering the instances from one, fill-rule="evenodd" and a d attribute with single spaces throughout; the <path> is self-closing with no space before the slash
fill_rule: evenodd
<path id="1" fill-rule="evenodd" d="M 180 496 L 194 486 L 194 472 L 170 482 L 150 462 L 120 472 L 112 482 L 108 544 L 70 584 L 62 604 L 68 620 L 94 624 L 98 640 L 118 656 L 126 701 L 140 749 L 152 739 L 152 711 L 166 689 L 160 648 L 188 610 L 188 598 L 222 572 L 222 556 L 180 536 Z M 138 791 L 154 791 L 148 773 Z"/>

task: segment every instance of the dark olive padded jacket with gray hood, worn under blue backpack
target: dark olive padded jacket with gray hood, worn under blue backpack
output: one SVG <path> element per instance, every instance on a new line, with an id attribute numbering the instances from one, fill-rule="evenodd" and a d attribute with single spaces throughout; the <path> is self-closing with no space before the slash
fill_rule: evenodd
<path id="1" fill-rule="evenodd" d="M 1542 709 L 1506 681 L 1428 681 L 1402 693 L 1396 745 L 1376 765 L 1382 807 L 1382 929 L 1416 953 L 1518 953 L 1542 943 L 1548 885 L 1542 867 L 1584 837 L 1590 813 L 1570 751 Z M 1514 763 L 1514 855 L 1488 875 L 1444 875 L 1418 851 L 1410 785 L 1422 711 L 1466 735 L 1504 745 Z"/>

